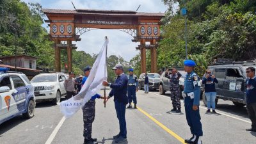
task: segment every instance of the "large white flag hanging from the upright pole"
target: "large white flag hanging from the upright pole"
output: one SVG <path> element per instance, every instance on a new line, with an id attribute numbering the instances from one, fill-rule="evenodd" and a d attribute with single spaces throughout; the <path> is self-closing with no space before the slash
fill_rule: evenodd
<path id="1" fill-rule="evenodd" d="M 104 42 L 97 59 L 93 63 L 90 75 L 83 84 L 81 91 L 74 97 L 68 100 L 60 102 L 60 110 L 65 117 L 70 117 L 74 115 L 86 102 L 88 102 L 93 95 L 97 93 L 100 88 L 103 88 L 102 81 L 106 80 L 108 77 L 106 70 L 106 58 L 107 58 L 107 47 L 108 39 Z"/>

